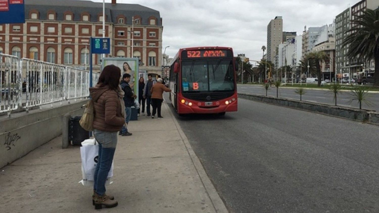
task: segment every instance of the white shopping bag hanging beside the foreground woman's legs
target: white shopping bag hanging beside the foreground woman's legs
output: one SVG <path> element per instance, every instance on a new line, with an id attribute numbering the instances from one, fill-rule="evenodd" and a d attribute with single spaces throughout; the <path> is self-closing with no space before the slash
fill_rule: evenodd
<path id="1" fill-rule="evenodd" d="M 92 142 L 91 142 L 92 141 Z M 99 155 L 99 145 L 96 144 L 95 139 L 86 139 L 82 142 L 82 146 L 80 147 L 80 155 L 81 155 L 81 172 L 83 174 L 83 180 L 79 183 L 83 185 L 91 185 L 93 186 L 94 175 L 97 165 L 97 159 Z M 109 170 L 106 185 L 111 184 L 110 178 L 113 177 L 113 162 L 111 169 Z"/>

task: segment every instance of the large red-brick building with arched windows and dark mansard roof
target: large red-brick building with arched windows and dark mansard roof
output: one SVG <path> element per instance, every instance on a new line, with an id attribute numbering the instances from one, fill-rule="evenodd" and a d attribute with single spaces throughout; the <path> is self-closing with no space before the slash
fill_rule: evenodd
<path id="1" fill-rule="evenodd" d="M 102 3 L 87 0 L 25 1 L 25 23 L 0 25 L 0 52 L 85 67 L 89 38 L 102 37 L 102 10 Z M 105 37 L 111 39 L 107 57 L 138 57 L 141 70 L 160 74 L 162 31 L 159 11 L 116 0 L 105 4 Z M 100 70 L 100 59 L 92 55 L 94 71 Z"/>

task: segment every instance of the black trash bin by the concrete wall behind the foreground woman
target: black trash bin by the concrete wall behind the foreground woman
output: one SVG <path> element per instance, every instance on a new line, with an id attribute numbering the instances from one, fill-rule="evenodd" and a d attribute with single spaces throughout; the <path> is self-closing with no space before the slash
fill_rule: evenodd
<path id="1" fill-rule="evenodd" d="M 89 132 L 80 126 L 81 116 L 70 118 L 69 122 L 69 141 L 72 145 L 81 145 L 81 142 L 89 138 Z"/>

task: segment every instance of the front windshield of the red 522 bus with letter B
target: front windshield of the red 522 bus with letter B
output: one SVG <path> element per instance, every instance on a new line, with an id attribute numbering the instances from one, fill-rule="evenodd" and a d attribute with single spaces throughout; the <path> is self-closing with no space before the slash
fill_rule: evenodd
<path id="1" fill-rule="evenodd" d="M 234 73 L 230 59 L 182 62 L 183 92 L 233 91 Z"/>

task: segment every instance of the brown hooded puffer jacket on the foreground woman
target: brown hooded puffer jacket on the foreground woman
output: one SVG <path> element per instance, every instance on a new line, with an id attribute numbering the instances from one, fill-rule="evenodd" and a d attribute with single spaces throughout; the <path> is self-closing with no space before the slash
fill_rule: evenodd
<path id="1" fill-rule="evenodd" d="M 94 129 L 106 132 L 120 131 L 125 123 L 117 92 L 108 86 L 89 88 L 94 101 Z"/>

